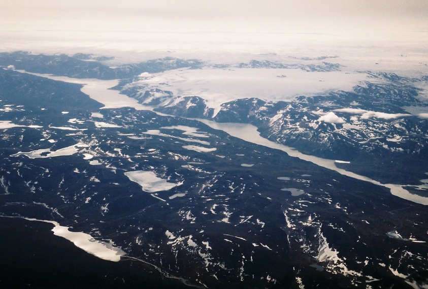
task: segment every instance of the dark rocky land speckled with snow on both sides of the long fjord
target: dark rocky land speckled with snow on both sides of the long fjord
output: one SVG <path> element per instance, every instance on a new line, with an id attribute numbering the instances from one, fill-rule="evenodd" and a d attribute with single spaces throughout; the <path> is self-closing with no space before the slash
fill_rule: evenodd
<path id="1" fill-rule="evenodd" d="M 115 71 L 108 67 L 103 69 L 106 73 L 88 74 L 97 69 L 87 65 L 98 71 L 103 67 L 97 59 L 87 61 L 92 56 L 46 56 L 49 61 L 36 56 L 1 54 L 0 64 L 39 73 L 52 73 L 58 67 L 55 74 L 64 76 L 117 78 L 116 72 L 107 76 Z M 65 59 L 63 70 L 55 60 L 58 57 Z M 51 61 L 55 64 L 49 67 Z M 134 76 L 121 86 L 125 88 L 150 65 L 153 71 L 162 71 L 199 66 L 202 61 L 145 63 L 146 68 L 140 63 L 135 70 L 128 66 L 132 69 L 126 77 Z M 48 68 L 43 70 L 45 65 Z M 76 65 L 76 73 L 71 72 L 70 66 Z M 100 109 L 102 104 L 83 94 L 80 85 L 0 69 L 0 215 L 56 221 L 126 253 L 118 263 L 100 261 L 83 251 L 74 252 L 71 243 L 52 235 L 49 224 L 0 218 L 8 236 L 0 239 L 2 244 L 10 246 L 19 240 L 16 247 L 36 254 L 35 259 L 30 252 L 19 255 L 22 271 L 0 275 L 0 286 L 60 286 L 61 280 L 68 282 L 70 275 L 79 274 L 88 282 L 67 283 L 69 287 L 93 287 L 96 280 L 124 288 L 138 287 L 141 280 L 148 287 L 166 288 L 426 286 L 426 206 L 392 196 L 383 186 L 182 117 L 253 123 L 269 139 L 352 164 L 338 166 L 416 186 L 427 178 L 427 120 L 416 116 L 351 119 L 355 115 L 339 109 L 407 114 L 403 104 L 426 106 L 411 85 L 422 80 L 373 77 L 386 82 L 293 102 L 236 100 L 223 104 L 216 116 L 197 96 L 167 107 L 162 104 L 176 96 L 166 91 L 123 90 L 141 101 L 162 94 L 162 100 L 151 104 L 157 106 L 155 110 L 176 115 L 162 116 L 134 108 Z M 195 105 L 185 110 L 189 102 Z M 327 112 L 343 122 L 320 120 Z M 157 183 L 139 184 L 125 174 L 129 172 L 153 173 Z M 165 183 L 175 186 L 164 189 Z M 25 243 L 25 239 L 35 241 Z M 49 245 L 52 250 L 48 250 L 51 242 L 57 245 Z M 62 260 L 57 259 L 56 250 L 64 254 Z M 75 259 L 64 264 L 69 255 Z M 11 272 L 12 259 L 4 253 L 0 271 Z M 32 275 L 27 268 L 40 262 L 54 273 Z M 52 264 L 68 269 L 57 270 Z M 78 264 L 86 267 L 78 270 Z M 89 276 L 84 272 L 91 267 L 96 269 Z M 175 278 L 183 282 L 177 285 Z"/>

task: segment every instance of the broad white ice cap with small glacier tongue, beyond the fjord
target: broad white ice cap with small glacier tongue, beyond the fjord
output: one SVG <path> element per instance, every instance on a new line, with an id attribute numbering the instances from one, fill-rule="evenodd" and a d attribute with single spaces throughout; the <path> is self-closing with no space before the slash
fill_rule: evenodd
<path id="1" fill-rule="evenodd" d="M 278 77 L 285 75 L 286 77 Z M 306 72 L 301 69 L 231 68 L 178 69 L 145 75 L 133 85 L 149 85 L 169 90 L 174 95 L 196 95 L 218 111 L 222 103 L 243 98 L 268 101 L 292 100 L 332 90 L 352 90 L 366 73 L 344 71 Z"/>

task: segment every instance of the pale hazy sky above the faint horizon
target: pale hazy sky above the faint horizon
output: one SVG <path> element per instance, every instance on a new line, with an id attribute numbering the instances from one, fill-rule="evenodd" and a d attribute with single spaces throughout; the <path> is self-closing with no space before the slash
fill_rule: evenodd
<path id="1" fill-rule="evenodd" d="M 2 0 L 0 29 L 321 33 L 428 28 L 426 0 Z M 358 26 L 358 27 L 357 27 Z"/>

